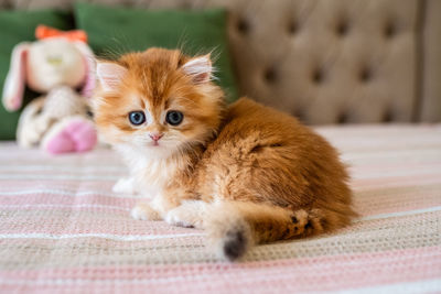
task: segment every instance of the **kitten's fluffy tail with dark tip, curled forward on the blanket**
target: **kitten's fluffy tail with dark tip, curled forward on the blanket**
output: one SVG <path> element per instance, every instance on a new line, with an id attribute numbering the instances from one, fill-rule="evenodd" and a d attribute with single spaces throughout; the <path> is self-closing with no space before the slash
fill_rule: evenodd
<path id="1" fill-rule="evenodd" d="M 312 236 L 347 222 L 348 218 L 322 209 L 222 202 L 212 206 L 205 229 L 218 254 L 234 261 L 254 244 Z"/>

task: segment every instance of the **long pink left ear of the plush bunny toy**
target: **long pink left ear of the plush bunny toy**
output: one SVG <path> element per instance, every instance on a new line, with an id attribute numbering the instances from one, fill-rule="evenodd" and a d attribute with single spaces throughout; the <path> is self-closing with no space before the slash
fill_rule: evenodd
<path id="1" fill-rule="evenodd" d="M 15 45 L 11 55 L 11 64 L 3 85 L 3 106 L 9 111 L 18 110 L 23 102 L 26 79 L 26 56 L 30 43 Z"/>

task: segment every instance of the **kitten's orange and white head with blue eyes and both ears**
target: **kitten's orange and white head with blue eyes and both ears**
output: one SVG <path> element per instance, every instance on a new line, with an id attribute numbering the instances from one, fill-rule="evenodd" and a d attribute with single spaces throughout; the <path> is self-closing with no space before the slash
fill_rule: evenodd
<path id="1" fill-rule="evenodd" d="M 160 157 L 203 143 L 218 127 L 223 102 L 211 70 L 208 56 L 159 48 L 99 64 L 98 131 L 114 145 Z"/>

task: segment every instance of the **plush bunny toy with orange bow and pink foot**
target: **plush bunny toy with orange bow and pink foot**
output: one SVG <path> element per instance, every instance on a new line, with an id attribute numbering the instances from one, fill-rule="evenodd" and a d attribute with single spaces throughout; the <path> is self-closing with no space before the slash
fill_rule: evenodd
<path id="1" fill-rule="evenodd" d="M 43 94 L 20 116 L 18 143 L 40 145 L 52 154 L 90 150 L 97 134 L 87 107 L 95 86 L 95 58 L 87 35 L 43 25 L 35 35 L 36 42 L 14 47 L 3 87 L 3 105 L 9 111 L 21 107 L 25 85 Z"/>

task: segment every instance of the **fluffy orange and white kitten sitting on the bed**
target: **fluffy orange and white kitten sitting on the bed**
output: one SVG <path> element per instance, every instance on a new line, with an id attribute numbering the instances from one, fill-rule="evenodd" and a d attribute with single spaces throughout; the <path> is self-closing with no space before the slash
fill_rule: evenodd
<path id="1" fill-rule="evenodd" d="M 137 190 L 137 219 L 204 228 L 218 252 L 347 225 L 347 173 L 337 152 L 289 115 L 212 83 L 209 56 L 150 48 L 97 65 L 98 130 L 119 151 Z"/>

